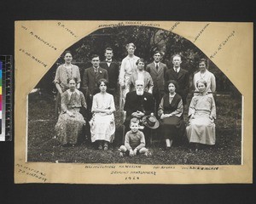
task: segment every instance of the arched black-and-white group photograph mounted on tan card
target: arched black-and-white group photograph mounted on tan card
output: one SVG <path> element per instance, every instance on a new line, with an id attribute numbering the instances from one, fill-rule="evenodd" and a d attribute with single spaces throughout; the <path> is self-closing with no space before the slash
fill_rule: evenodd
<path id="1" fill-rule="evenodd" d="M 195 46 L 205 25 L 194 42 L 119 25 L 65 48 L 27 95 L 26 161 L 242 165 L 243 96 Z"/>

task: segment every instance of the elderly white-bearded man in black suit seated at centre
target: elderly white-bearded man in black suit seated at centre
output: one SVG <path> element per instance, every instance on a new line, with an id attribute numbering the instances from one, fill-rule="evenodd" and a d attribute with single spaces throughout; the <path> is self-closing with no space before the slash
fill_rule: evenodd
<path id="1" fill-rule="evenodd" d="M 126 94 L 124 111 L 126 111 L 125 132 L 129 129 L 132 117 L 142 118 L 154 112 L 153 95 L 144 92 L 143 80 L 136 81 L 136 91 Z"/>

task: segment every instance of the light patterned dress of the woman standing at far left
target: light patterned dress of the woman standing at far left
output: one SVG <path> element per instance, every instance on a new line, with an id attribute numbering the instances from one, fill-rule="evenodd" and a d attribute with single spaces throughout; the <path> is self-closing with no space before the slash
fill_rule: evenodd
<path id="1" fill-rule="evenodd" d="M 55 73 L 55 83 L 59 83 L 62 93 L 68 89 L 67 80 L 75 78 L 77 83 L 81 82 L 80 71 L 77 65 L 72 65 L 70 69 L 67 69 L 65 65 L 59 65 Z M 61 94 L 58 92 L 55 103 L 55 115 L 59 116 L 61 111 Z"/>

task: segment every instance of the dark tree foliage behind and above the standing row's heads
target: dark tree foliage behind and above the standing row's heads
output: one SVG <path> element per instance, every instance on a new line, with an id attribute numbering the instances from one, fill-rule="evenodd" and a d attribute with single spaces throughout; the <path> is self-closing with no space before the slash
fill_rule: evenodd
<path id="1" fill-rule="evenodd" d="M 73 53 L 73 64 L 79 65 L 81 76 L 84 69 L 90 67 L 90 56 L 99 54 L 100 58 L 104 59 L 105 48 L 113 48 L 114 59 L 121 63 L 121 60 L 127 55 L 125 45 L 133 42 L 137 49 L 135 54 L 145 59 L 146 64 L 153 61 L 153 51 L 160 50 L 163 54 L 162 61 L 166 63 L 168 68 L 172 67 L 172 55 L 181 54 L 183 57 L 182 68 L 189 71 L 190 84 L 192 86 L 192 78 L 195 71 L 198 71 L 198 60 L 207 58 L 205 54 L 192 42 L 178 36 L 170 31 L 160 30 L 154 27 L 147 26 L 117 26 L 102 28 L 92 32 L 89 36 L 84 37 L 79 42 L 76 42 L 68 50 Z M 209 42 L 209 46 L 211 46 Z M 216 65 L 208 59 L 208 70 L 211 71 L 217 82 L 218 93 L 228 93 L 234 97 L 239 97 L 241 94 L 230 82 L 228 77 L 218 69 Z M 63 56 L 56 60 L 48 73 L 38 82 L 38 88 L 43 88 L 46 91 L 55 89 L 53 83 L 55 70 L 58 65 L 64 63 Z"/>

